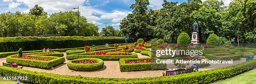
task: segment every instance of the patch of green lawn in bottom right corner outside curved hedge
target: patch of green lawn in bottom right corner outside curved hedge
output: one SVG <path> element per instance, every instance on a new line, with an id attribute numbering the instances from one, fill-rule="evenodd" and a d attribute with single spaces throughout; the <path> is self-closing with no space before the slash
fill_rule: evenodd
<path id="1" fill-rule="evenodd" d="M 214 84 L 256 84 L 256 69 Z"/>

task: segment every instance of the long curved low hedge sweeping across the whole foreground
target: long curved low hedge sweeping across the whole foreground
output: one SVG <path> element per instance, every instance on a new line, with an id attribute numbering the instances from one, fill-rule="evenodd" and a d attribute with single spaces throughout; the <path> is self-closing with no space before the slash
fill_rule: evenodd
<path id="1" fill-rule="evenodd" d="M 45 72 L 28 71 L 24 69 L 0 66 L 0 75 L 29 76 L 28 84 L 207 84 L 241 74 L 256 68 L 256 59 L 233 66 L 197 71 L 174 76 L 159 76 L 146 78 L 92 78 L 84 76 L 66 76 Z"/>

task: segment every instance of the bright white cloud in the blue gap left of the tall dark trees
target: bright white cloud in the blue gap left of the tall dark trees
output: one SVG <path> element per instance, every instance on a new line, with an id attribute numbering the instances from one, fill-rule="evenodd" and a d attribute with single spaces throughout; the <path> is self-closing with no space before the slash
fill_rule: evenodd
<path id="1" fill-rule="evenodd" d="M 114 10 L 112 13 L 105 13 L 104 15 L 101 15 L 101 19 L 112 19 L 112 22 L 119 22 L 123 18 L 125 18 L 131 11 L 119 11 Z"/>

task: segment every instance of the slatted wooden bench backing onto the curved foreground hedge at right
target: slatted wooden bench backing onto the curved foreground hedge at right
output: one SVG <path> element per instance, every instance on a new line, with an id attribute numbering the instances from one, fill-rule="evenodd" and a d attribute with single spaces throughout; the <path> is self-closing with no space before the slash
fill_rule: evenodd
<path id="1" fill-rule="evenodd" d="M 172 75 L 179 75 L 179 74 L 187 74 L 193 72 L 193 69 L 177 69 L 174 71 L 166 71 L 163 72 L 163 76 L 172 76 Z"/>

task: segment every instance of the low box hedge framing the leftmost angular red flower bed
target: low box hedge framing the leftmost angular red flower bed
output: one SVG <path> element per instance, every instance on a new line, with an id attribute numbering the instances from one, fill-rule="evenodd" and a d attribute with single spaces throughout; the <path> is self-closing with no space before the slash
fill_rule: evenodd
<path id="1" fill-rule="evenodd" d="M 17 56 L 17 55 L 12 55 Z M 35 68 L 42 68 L 42 69 L 51 69 L 51 67 L 57 66 L 65 62 L 64 57 L 56 57 L 56 56 L 37 56 L 37 55 L 28 55 L 28 57 L 34 58 L 43 58 L 43 59 L 52 59 L 50 61 L 39 61 L 39 60 L 31 60 L 31 59 L 16 59 L 12 58 L 12 56 L 8 56 L 6 58 L 7 63 L 15 62 L 21 66 L 29 66 Z"/>

